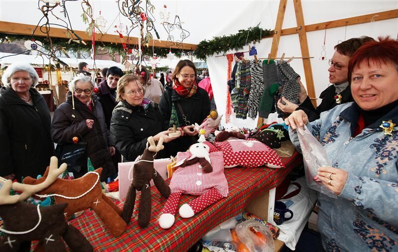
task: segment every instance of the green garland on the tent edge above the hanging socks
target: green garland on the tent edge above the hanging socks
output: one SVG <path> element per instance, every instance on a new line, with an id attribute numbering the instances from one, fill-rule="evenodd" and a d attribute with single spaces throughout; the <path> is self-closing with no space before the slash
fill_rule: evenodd
<path id="1" fill-rule="evenodd" d="M 258 42 L 263 36 L 272 35 L 272 33 L 273 31 L 264 30 L 257 25 L 246 30 L 239 30 L 238 33 L 233 35 L 213 37 L 212 40 L 202 40 L 196 47 L 194 55 L 198 59 L 205 61 L 206 56 L 211 56 L 215 53 L 226 53 L 229 50 L 241 50 L 250 42 Z"/>

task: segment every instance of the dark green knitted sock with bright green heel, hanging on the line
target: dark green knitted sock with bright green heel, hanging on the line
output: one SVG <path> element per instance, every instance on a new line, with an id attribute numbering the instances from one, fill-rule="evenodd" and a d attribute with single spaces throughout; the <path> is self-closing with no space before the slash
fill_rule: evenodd
<path id="1" fill-rule="evenodd" d="M 270 94 L 270 88 L 272 84 L 278 83 L 278 72 L 277 66 L 275 65 L 274 61 L 270 61 L 269 64 L 267 63 L 267 61 L 264 61 L 263 69 L 264 91 L 259 105 L 259 116 L 263 118 L 268 118 L 268 115 L 270 114 L 272 106 L 274 104 L 274 97 Z"/>

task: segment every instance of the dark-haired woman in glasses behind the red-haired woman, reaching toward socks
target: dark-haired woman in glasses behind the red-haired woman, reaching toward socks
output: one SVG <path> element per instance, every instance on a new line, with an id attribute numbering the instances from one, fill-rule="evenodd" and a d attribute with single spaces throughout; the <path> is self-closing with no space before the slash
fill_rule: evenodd
<path id="1" fill-rule="evenodd" d="M 298 94 L 298 100 L 300 105 L 284 100 L 286 105 L 284 105 L 281 99 L 278 101 L 277 105 L 283 112 L 292 113 L 295 110 L 302 110 L 308 116 L 310 122 L 319 119 L 321 112 L 328 111 L 334 108 L 336 105 L 343 104 L 346 102 L 352 102 L 352 95 L 350 84 L 348 83 L 348 62 L 351 56 L 366 42 L 374 41 L 373 38 L 363 36 L 360 38 L 352 38 L 337 44 L 334 47 L 336 50 L 329 60 L 330 67 L 327 69 L 329 71 L 329 82 L 332 84 L 322 91 L 319 98 L 322 102 L 314 108 L 309 99 L 304 86 L 300 83 L 300 92 Z"/>

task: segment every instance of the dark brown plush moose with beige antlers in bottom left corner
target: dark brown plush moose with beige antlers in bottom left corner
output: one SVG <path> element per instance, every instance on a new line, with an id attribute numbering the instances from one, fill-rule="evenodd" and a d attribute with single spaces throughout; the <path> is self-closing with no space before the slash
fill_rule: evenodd
<path id="1" fill-rule="evenodd" d="M 0 177 L 0 216 L 4 220 L 1 231 L 6 234 L 0 240 L 0 251 L 30 251 L 32 240 L 40 241 L 45 251 L 66 251 L 62 238 L 72 251 L 93 251 L 93 247 L 80 231 L 65 220 L 64 209 L 67 203 L 40 207 L 20 202 L 51 185 L 67 167 L 65 163 L 58 169 L 57 166 L 58 159 L 51 157 L 47 178 L 34 186 L 12 183 Z M 22 194 L 10 196 L 11 187 L 22 191 Z"/>

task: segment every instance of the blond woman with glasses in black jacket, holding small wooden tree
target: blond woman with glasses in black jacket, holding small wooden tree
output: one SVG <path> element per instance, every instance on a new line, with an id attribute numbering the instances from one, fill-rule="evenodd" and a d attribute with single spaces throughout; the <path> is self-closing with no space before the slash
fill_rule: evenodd
<path id="1" fill-rule="evenodd" d="M 160 116 L 159 108 L 153 101 L 144 98 L 144 89 L 135 74 L 126 74 L 117 83 L 116 101 L 110 120 L 110 137 L 116 149 L 123 155 L 123 162 L 134 161 L 144 152 L 147 138 L 164 143 L 178 137 L 171 137 L 168 125 Z M 168 144 L 159 151 L 156 158 L 169 157 Z"/>

